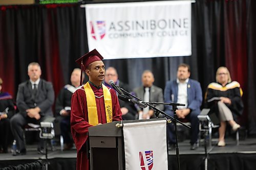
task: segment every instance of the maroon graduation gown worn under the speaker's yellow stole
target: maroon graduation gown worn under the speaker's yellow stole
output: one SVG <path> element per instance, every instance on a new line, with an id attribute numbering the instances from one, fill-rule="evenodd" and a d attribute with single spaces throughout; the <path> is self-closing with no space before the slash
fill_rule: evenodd
<path id="1" fill-rule="evenodd" d="M 91 84 L 90 86 L 92 87 L 92 90 L 96 96 L 101 96 L 101 98 L 95 98 L 95 100 L 98 112 L 98 121 L 101 124 L 105 124 L 106 114 L 103 98 L 103 89 L 102 87 L 100 89 L 97 89 Z M 122 113 L 118 103 L 116 91 L 114 89 L 110 89 L 110 93 L 112 98 L 113 122 L 122 120 Z M 83 87 L 76 90 L 75 93 L 72 95 L 70 121 L 71 133 L 77 149 L 76 169 L 89 170 L 86 141 L 88 138 L 88 128 L 92 125 L 89 124 L 88 120 L 86 93 L 84 92 Z"/>

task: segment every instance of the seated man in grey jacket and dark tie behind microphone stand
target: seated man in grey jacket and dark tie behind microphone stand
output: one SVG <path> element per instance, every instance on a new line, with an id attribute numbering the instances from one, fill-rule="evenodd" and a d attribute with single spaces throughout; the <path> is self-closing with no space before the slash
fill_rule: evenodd
<path id="1" fill-rule="evenodd" d="M 150 70 L 144 70 L 141 76 L 142 86 L 135 88 L 135 95 L 144 102 L 163 102 L 163 90 L 153 85 L 155 78 Z M 160 110 L 164 110 L 163 105 L 156 105 Z M 156 118 L 154 110 L 147 107 L 138 110 L 139 119 Z"/>

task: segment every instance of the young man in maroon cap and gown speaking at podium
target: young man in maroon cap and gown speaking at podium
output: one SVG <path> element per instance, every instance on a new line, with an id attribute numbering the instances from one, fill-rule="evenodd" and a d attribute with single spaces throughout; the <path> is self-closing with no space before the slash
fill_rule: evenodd
<path id="1" fill-rule="evenodd" d="M 89 81 L 74 92 L 71 100 L 71 133 L 77 149 L 77 170 L 90 168 L 86 143 L 88 128 L 122 120 L 116 91 L 102 84 L 105 75 L 102 59 L 94 49 L 76 60 L 81 71 L 84 70 L 89 77 Z"/>

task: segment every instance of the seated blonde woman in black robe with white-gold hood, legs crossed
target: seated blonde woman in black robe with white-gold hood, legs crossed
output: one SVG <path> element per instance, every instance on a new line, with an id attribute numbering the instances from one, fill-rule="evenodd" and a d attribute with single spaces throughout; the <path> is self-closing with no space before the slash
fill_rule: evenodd
<path id="1" fill-rule="evenodd" d="M 240 125 L 234 119 L 243 113 L 242 89 L 236 81 L 231 81 L 230 73 L 226 67 L 219 67 L 216 72 L 216 83 L 210 83 L 206 90 L 206 104 L 211 112 L 217 114 L 221 125 L 219 128 L 219 147 L 224 147 L 226 123 L 233 131 Z"/>

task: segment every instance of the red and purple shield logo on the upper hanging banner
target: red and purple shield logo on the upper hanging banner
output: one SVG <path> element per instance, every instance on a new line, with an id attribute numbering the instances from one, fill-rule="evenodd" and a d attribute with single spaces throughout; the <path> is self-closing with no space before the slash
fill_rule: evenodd
<path id="1" fill-rule="evenodd" d="M 95 30 L 93 21 L 90 21 L 90 27 L 91 27 L 91 36 L 93 39 L 102 39 L 104 38 L 106 34 L 106 25 L 105 21 L 96 21 L 97 23 L 97 30 Z"/>

